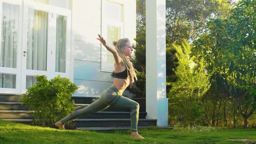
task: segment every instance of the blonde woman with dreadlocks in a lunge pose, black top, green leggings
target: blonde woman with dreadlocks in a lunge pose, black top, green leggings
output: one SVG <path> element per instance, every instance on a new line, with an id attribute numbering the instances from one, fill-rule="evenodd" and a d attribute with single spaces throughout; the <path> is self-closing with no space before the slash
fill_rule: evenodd
<path id="1" fill-rule="evenodd" d="M 82 115 L 94 114 L 98 111 L 102 111 L 109 106 L 115 108 L 130 108 L 131 109 L 131 137 L 132 138 L 141 138 L 144 139 L 141 135 L 138 134 L 138 117 L 139 117 L 139 104 L 136 101 L 131 100 L 122 96 L 122 93 L 125 91 L 125 88 L 137 80 L 135 69 L 133 68 L 132 63 L 128 59 L 128 56 L 131 56 L 133 48 L 131 47 L 131 42 L 128 38 L 119 39 L 117 42 L 113 42 L 115 49 L 109 47 L 106 44 L 105 39 L 98 34 L 97 38 L 103 46 L 112 52 L 115 58 L 115 79 L 113 85 L 102 92 L 101 97 L 94 101 L 89 106 L 76 110 L 62 118 L 60 121 L 56 122 L 56 127 L 64 129 L 64 124 L 72 119 L 78 118 Z"/>

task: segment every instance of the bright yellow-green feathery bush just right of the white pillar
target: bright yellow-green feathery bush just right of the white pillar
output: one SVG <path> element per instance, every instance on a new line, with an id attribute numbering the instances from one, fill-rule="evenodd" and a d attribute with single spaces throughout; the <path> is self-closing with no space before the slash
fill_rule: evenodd
<path id="1" fill-rule="evenodd" d="M 172 83 L 169 98 L 169 123 L 184 127 L 203 124 L 205 110 L 201 98 L 210 88 L 209 75 L 201 59 L 190 56 L 190 44 L 183 39 L 182 46 L 174 45 L 179 65 L 175 71 L 177 81 Z M 177 121 L 182 117 L 182 121 Z"/>

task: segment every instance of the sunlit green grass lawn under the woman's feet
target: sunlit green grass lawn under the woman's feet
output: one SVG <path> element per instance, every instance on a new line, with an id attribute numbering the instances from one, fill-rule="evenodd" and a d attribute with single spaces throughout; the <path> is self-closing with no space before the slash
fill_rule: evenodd
<path id="1" fill-rule="evenodd" d="M 177 132 L 151 127 L 139 129 L 146 139 L 132 139 L 131 130 L 58 130 L 0 120 L 0 144 L 242 144 L 256 142 L 256 129 L 216 128 L 210 132 Z M 249 139 L 249 141 L 230 141 Z"/>

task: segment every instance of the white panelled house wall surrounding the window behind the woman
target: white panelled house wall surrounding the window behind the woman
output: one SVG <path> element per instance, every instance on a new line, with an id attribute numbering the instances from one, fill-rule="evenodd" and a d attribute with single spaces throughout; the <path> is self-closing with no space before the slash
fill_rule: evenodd
<path id="1" fill-rule="evenodd" d="M 96 39 L 102 33 L 101 7 L 102 0 L 72 0 L 74 83 L 80 87 L 75 96 L 99 97 L 114 82 L 110 72 L 101 71 L 101 43 Z M 124 8 L 129 12 L 124 16 L 124 35 L 134 43 L 136 1 L 126 0 Z"/>

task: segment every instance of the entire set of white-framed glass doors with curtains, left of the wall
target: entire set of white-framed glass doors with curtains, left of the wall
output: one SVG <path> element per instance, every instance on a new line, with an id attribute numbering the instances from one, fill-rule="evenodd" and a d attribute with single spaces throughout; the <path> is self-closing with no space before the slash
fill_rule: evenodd
<path id="1" fill-rule="evenodd" d="M 0 93 L 24 93 L 35 75 L 69 78 L 71 11 L 23 0 L 0 8 Z"/>

